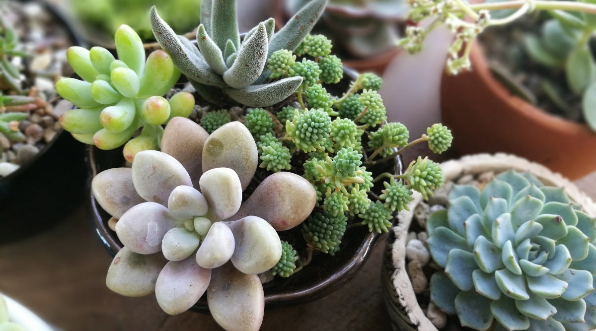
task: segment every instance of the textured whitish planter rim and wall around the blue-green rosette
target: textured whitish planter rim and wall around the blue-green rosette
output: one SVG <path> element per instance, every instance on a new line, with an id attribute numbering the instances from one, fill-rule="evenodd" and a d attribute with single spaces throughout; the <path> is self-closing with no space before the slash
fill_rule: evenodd
<path id="1" fill-rule="evenodd" d="M 480 174 L 487 171 L 495 173 L 510 169 L 529 171 L 545 185 L 563 188 L 572 201 L 582 205 L 583 211 L 590 216 L 596 215 L 596 205 L 592 199 L 579 191 L 575 184 L 560 174 L 553 173 L 548 168 L 524 158 L 508 154 L 476 154 L 459 160 L 447 161 L 441 164 L 441 168 L 446 181 L 457 179 L 465 174 Z M 387 238 L 381 272 L 383 295 L 394 330 L 437 331 L 437 328 L 418 305 L 414 289 L 406 273 L 406 236 L 414 216 L 415 206 L 422 199 L 420 193 L 414 193 L 412 195 L 414 201 L 409 204 L 411 211 L 403 211 L 398 214 L 399 224 L 390 230 L 395 235 L 392 236 L 390 233 Z"/>

